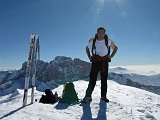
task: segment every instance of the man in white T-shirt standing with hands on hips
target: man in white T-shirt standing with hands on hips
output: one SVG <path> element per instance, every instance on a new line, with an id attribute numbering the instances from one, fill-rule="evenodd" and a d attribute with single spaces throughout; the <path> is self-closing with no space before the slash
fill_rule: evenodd
<path id="1" fill-rule="evenodd" d="M 92 92 L 96 85 L 97 75 L 99 72 L 101 76 L 101 99 L 105 102 L 109 102 L 109 99 L 107 98 L 108 68 L 109 62 L 111 62 L 111 59 L 116 54 L 118 47 L 111 39 L 108 39 L 105 32 L 105 28 L 98 28 L 97 34 L 94 38 L 90 39 L 89 44 L 86 47 L 86 53 L 92 63 L 92 66 L 88 88 L 82 102 L 92 101 Z M 112 48 L 111 54 L 110 48 Z M 92 53 L 92 56 L 90 52 Z"/>

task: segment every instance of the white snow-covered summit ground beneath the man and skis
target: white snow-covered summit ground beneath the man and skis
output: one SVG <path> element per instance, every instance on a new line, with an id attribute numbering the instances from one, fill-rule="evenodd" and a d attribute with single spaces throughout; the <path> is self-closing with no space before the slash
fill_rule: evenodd
<path id="1" fill-rule="evenodd" d="M 74 82 L 78 97 L 85 95 L 88 82 Z M 53 89 L 61 96 L 63 85 Z M 43 92 L 35 91 L 40 99 Z M 108 80 L 109 103 L 100 100 L 100 81 L 97 81 L 91 104 L 80 106 L 62 103 L 30 103 L 22 107 L 23 90 L 0 96 L 0 119 L 2 120 L 160 120 L 160 96 L 145 90 L 120 85 Z"/>

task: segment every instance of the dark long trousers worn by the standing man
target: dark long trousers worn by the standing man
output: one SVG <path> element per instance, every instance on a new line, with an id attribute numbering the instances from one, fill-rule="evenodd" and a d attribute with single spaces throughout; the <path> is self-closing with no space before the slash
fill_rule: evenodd
<path id="1" fill-rule="evenodd" d="M 101 97 L 106 97 L 107 94 L 107 78 L 108 78 L 108 62 L 106 61 L 97 61 L 92 62 L 90 79 L 88 88 L 86 90 L 85 97 L 91 97 L 94 87 L 96 85 L 97 76 L 100 72 L 101 75 Z"/>

